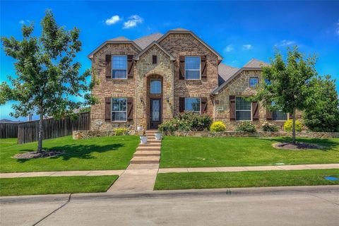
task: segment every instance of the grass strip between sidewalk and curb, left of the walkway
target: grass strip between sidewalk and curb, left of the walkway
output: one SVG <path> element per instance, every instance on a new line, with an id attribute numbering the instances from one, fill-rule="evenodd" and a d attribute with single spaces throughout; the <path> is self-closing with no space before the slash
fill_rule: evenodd
<path id="1" fill-rule="evenodd" d="M 1 196 L 105 192 L 118 176 L 21 177 L 0 179 Z"/>

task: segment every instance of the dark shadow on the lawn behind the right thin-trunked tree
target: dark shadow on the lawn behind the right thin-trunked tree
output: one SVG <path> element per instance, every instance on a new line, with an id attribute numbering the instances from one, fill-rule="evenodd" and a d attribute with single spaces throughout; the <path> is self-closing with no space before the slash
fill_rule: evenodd
<path id="1" fill-rule="evenodd" d="M 280 137 L 280 138 L 261 138 L 262 140 L 266 141 L 275 141 L 275 142 L 292 142 L 292 138 L 290 137 Z M 314 143 L 321 145 L 323 148 L 317 149 L 317 150 L 322 150 L 322 151 L 339 151 L 339 141 L 331 141 L 330 139 L 327 138 L 297 138 L 297 142 L 302 142 L 302 143 Z"/>

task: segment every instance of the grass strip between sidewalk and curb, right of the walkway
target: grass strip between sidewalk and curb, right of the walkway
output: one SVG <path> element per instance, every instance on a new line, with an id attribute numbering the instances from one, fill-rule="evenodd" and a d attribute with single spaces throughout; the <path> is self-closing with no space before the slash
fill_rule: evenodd
<path id="1" fill-rule="evenodd" d="M 259 186 L 333 185 L 323 177 L 339 177 L 339 169 L 157 174 L 155 190 L 220 189 Z"/>

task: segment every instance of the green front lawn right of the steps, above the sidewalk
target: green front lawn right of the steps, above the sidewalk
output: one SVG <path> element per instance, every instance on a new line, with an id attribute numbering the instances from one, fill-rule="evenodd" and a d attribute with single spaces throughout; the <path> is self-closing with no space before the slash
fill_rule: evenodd
<path id="1" fill-rule="evenodd" d="M 281 150 L 275 142 L 289 138 L 201 138 L 165 136 L 161 147 L 161 168 L 227 167 L 339 162 L 339 138 L 298 141 L 317 143 L 322 150 Z"/>

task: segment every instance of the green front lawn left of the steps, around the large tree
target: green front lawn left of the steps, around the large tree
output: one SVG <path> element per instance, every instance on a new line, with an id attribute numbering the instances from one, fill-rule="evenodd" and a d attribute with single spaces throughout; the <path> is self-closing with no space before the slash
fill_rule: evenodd
<path id="1" fill-rule="evenodd" d="M 12 145 L 10 144 L 12 142 Z M 73 140 L 71 136 L 43 142 L 44 148 L 62 150 L 57 157 L 19 160 L 16 153 L 35 151 L 37 142 L 15 144 L 13 139 L 0 140 L 0 172 L 69 171 L 126 169 L 139 143 L 138 136 L 107 136 Z"/>

